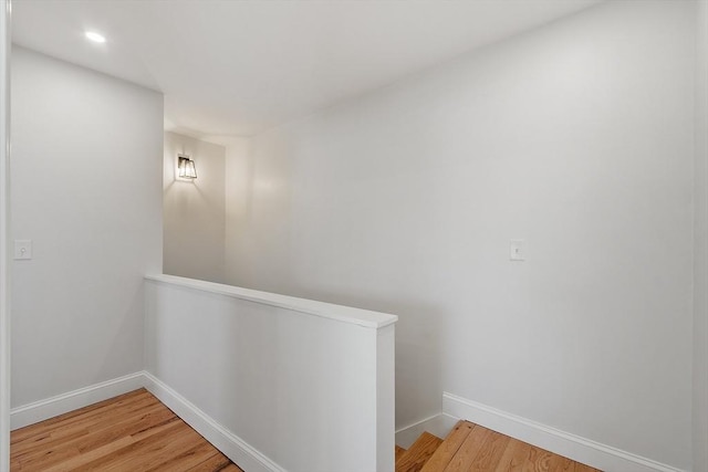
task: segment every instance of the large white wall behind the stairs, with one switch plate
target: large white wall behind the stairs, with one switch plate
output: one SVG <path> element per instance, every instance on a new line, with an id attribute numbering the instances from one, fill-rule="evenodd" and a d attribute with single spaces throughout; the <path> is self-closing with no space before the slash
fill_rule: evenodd
<path id="1" fill-rule="evenodd" d="M 694 30 L 607 2 L 254 137 L 228 282 L 399 315 L 398 427 L 445 390 L 690 468 Z"/>

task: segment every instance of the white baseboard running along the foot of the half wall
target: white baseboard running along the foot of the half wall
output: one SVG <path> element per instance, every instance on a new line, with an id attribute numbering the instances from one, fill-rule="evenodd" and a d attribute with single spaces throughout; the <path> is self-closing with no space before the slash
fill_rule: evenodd
<path id="1" fill-rule="evenodd" d="M 207 441 L 248 472 L 285 472 L 275 462 L 216 422 L 162 380 L 145 371 L 145 387 Z"/>

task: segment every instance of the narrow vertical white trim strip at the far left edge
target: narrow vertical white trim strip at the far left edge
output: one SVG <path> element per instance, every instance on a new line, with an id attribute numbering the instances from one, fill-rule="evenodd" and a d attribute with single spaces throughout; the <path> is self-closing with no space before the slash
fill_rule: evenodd
<path id="1" fill-rule="evenodd" d="M 10 470 L 10 0 L 0 0 L 0 470 Z"/>

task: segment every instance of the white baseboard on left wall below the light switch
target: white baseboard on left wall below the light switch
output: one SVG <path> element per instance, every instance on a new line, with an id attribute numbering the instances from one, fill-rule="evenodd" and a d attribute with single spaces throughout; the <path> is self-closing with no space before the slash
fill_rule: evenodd
<path id="1" fill-rule="evenodd" d="M 144 386 L 143 373 L 131 374 L 103 381 L 45 400 L 35 401 L 10 410 L 10 428 L 15 430 L 28 424 L 54 418 Z"/>

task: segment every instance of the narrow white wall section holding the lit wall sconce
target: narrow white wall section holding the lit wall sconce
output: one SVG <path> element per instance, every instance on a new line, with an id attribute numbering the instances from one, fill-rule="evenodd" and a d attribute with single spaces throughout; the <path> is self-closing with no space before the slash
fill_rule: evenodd
<path id="1" fill-rule="evenodd" d="M 197 178 L 177 178 L 177 154 L 190 156 Z M 165 133 L 164 259 L 166 274 L 223 282 L 226 148 Z"/>

